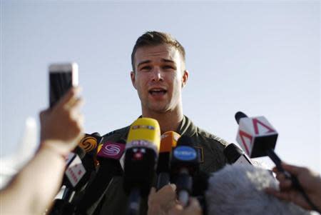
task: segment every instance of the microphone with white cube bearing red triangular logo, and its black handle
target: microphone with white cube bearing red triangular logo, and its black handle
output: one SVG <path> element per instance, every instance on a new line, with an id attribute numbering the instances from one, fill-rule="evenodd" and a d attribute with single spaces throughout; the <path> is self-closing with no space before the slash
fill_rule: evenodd
<path id="1" fill-rule="evenodd" d="M 238 135 L 236 141 L 245 149 L 251 158 L 260 156 L 269 156 L 275 163 L 277 170 L 285 174 L 287 179 L 292 181 L 292 186 L 301 192 L 308 204 L 318 211 L 317 206 L 310 201 L 310 198 L 305 194 L 304 189 L 300 185 L 297 177 L 291 175 L 283 169 L 281 159 L 275 154 L 275 144 L 277 141 L 277 131 L 265 119 L 264 116 L 257 116 L 249 118 L 243 112 L 235 114 L 235 119 L 239 124 Z"/>

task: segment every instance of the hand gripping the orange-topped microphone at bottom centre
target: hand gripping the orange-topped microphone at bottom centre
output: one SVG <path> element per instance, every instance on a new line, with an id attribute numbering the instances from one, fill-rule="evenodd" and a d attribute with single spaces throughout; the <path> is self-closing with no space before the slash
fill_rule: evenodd
<path id="1" fill-rule="evenodd" d="M 168 184 L 156 192 L 152 187 L 148 196 L 148 215 L 168 214 L 168 210 L 177 204 L 176 186 Z"/>

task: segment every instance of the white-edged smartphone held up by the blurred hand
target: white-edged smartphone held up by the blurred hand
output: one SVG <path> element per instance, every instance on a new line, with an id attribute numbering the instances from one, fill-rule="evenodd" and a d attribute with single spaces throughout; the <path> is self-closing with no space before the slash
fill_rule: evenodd
<path id="1" fill-rule="evenodd" d="M 78 86 L 78 64 L 49 65 L 49 105 L 52 108 L 72 86 Z"/>

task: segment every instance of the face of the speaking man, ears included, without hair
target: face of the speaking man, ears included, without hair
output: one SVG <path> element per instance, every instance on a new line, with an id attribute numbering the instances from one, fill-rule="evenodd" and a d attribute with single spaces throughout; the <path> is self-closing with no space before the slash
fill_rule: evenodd
<path id="1" fill-rule="evenodd" d="M 141 99 L 143 113 L 165 113 L 181 106 L 181 91 L 188 79 L 182 57 L 167 44 L 138 48 L 131 81 Z"/>

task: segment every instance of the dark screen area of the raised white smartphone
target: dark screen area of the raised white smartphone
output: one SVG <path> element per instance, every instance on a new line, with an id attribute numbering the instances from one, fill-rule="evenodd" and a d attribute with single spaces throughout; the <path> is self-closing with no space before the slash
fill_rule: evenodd
<path id="1" fill-rule="evenodd" d="M 49 82 L 50 107 L 52 107 L 73 86 L 71 71 L 51 72 Z"/>

